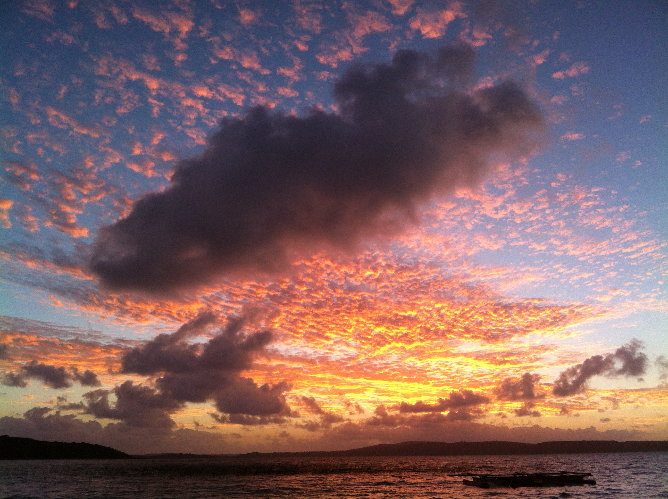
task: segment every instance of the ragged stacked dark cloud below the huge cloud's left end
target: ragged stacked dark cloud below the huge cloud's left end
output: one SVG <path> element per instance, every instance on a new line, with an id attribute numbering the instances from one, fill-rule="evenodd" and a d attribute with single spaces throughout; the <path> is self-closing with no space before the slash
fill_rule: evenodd
<path id="1" fill-rule="evenodd" d="M 126 381 L 112 390 L 86 393 L 83 403 L 63 405 L 83 409 L 96 418 L 122 420 L 138 428 L 170 428 L 170 414 L 186 402 L 214 402 L 218 422 L 269 424 L 282 422 L 291 415 L 285 381 L 275 385 L 257 385 L 241 371 L 250 369 L 255 355 L 262 353 L 272 340 L 271 331 L 244 333 L 244 319 L 230 319 L 204 343 L 190 342 L 192 337 L 208 333 L 218 318 L 202 313 L 176 332 L 160 334 L 140 347 L 127 351 L 121 359 L 121 372 L 157 376 L 155 387 Z M 110 401 L 114 395 L 116 401 Z"/>

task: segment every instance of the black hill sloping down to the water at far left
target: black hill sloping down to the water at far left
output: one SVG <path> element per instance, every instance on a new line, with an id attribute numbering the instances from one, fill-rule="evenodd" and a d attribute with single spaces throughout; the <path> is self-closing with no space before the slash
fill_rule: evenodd
<path id="1" fill-rule="evenodd" d="M 75 442 L 43 442 L 32 438 L 0 436 L 0 459 L 131 459 L 110 447 Z"/>

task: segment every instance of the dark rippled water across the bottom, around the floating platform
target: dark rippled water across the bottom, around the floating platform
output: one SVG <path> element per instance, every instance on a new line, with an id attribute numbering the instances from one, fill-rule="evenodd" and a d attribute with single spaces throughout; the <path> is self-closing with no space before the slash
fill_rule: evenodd
<path id="1" fill-rule="evenodd" d="M 448 473 L 592 472 L 595 486 L 481 489 Z M 668 452 L 0 461 L 1 499 L 668 498 Z"/>

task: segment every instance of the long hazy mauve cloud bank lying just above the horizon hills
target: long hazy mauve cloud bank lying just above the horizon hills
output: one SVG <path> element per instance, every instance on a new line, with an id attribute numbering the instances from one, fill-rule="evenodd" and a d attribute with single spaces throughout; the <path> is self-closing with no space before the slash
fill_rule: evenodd
<path id="1" fill-rule="evenodd" d="M 278 430 L 277 430 L 278 433 Z M 393 428 L 345 422 L 313 439 L 291 438 L 287 432 L 263 443 L 240 442 L 234 432 L 221 434 L 187 428 L 136 428 L 125 423 L 102 426 L 97 421 L 83 421 L 75 415 L 63 415 L 49 407 L 33 407 L 23 418 L 0 418 L 0 434 L 58 442 L 88 442 L 109 446 L 130 454 L 151 452 L 190 452 L 222 454 L 235 452 L 279 452 L 302 450 L 345 450 L 373 444 L 394 444 L 408 440 L 436 442 L 546 442 L 550 440 L 657 440 L 657 436 L 639 430 L 607 430 L 594 428 L 562 430 L 530 427 L 508 428 L 474 422 L 434 422 L 402 424 Z"/>

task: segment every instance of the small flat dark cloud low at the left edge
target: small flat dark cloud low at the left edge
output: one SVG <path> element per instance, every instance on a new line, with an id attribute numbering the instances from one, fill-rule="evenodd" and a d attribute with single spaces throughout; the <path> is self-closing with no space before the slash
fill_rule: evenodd
<path id="1" fill-rule="evenodd" d="M 7 386 L 25 387 L 28 379 L 38 379 L 49 388 L 69 388 L 73 381 L 83 386 L 100 386 L 98 376 L 89 369 L 80 373 L 76 367 L 67 370 L 63 366 L 56 367 L 36 360 L 21 365 L 13 373 L 5 373 L 0 382 Z"/>

